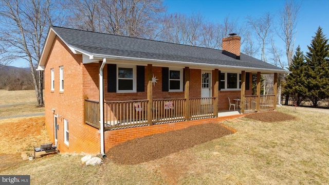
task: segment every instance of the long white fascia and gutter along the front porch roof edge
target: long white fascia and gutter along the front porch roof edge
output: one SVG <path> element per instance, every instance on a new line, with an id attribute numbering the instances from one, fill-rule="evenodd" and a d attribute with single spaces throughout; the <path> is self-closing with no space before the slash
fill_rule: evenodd
<path id="1" fill-rule="evenodd" d="M 228 69 L 228 70 L 245 70 L 247 72 L 256 72 L 259 71 L 261 73 L 287 73 L 288 71 L 282 70 L 275 70 L 275 69 L 265 69 L 265 68 L 254 68 L 254 67 L 239 67 L 239 66 L 227 66 L 227 65 L 216 65 L 216 64 L 203 64 L 203 63 L 192 63 L 192 62 L 184 62 L 184 61 L 169 61 L 169 60 L 159 60 L 159 59 L 145 59 L 145 58 L 133 58 L 133 57 L 122 57 L 116 55 L 103 55 L 103 54 L 94 54 L 93 58 L 98 59 L 112 59 L 112 60 L 126 60 L 126 61 L 136 61 L 136 62 L 149 62 L 150 64 L 159 65 L 159 63 L 166 63 L 165 66 L 168 66 L 168 63 L 172 64 L 173 66 L 182 66 L 182 67 L 197 67 L 202 69 Z"/>

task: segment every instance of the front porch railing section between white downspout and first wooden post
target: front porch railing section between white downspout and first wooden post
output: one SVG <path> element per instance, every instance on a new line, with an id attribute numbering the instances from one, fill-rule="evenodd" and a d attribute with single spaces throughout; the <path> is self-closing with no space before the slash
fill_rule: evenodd
<path id="1" fill-rule="evenodd" d="M 105 102 L 105 130 L 148 125 L 147 104 L 148 100 Z"/>

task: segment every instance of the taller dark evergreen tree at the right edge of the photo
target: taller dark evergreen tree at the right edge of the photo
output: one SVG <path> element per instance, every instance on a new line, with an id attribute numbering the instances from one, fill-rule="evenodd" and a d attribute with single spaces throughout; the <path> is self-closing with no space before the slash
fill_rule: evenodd
<path id="1" fill-rule="evenodd" d="M 321 100 L 329 98 L 329 44 L 321 27 L 307 48 L 307 97 L 317 107 Z"/>

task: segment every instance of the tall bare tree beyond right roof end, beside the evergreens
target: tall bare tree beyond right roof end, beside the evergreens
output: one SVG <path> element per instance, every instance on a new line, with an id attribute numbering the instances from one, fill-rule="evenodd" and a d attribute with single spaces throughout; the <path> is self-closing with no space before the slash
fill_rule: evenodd
<path id="1" fill-rule="evenodd" d="M 286 45 L 285 49 L 289 66 L 291 65 L 294 54 L 299 9 L 299 4 L 293 0 L 287 0 L 284 9 L 280 11 L 280 30 L 277 30 L 277 33 Z"/>

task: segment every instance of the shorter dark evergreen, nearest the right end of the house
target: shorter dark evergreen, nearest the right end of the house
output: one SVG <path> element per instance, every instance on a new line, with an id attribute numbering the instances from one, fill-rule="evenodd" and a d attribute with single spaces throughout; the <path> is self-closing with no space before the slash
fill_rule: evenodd
<path id="1" fill-rule="evenodd" d="M 299 106 L 306 98 L 306 63 L 303 52 L 300 50 L 300 46 L 297 47 L 293 62 L 291 63 L 289 70 L 290 73 L 286 77 L 286 86 L 284 93 L 293 98 L 294 104 Z"/>

